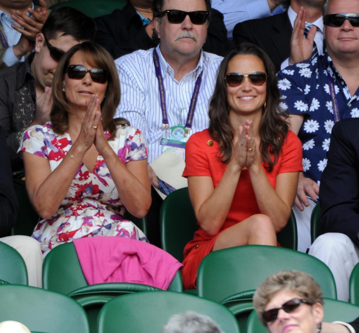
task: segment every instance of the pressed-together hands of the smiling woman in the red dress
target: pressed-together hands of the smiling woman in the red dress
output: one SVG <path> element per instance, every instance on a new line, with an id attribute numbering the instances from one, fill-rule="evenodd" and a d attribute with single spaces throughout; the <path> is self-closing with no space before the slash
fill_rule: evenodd
<path id="1" fill-rule="evenodd" d="M 244 126 L 239 125 L 236 137 L 234 138 L 233 155 L 230 163 L 236 163 L 239 171 L 244 168 L 251 169 L 253 166 L 259 165 L 252 120 L 246 120 Z"/>

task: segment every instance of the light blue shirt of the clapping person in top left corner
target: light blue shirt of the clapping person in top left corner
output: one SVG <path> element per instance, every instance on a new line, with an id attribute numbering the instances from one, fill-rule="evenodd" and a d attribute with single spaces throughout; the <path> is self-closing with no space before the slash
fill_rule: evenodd
<path id="1" fill-rule="evenodd" d="M 31 4 L 31 8 L 34 9 L 34 4 Z M 30 16 L 30 13 L 28 13 L 28 16 Z M 21 59 L 18 59 L 17 56 L 14 54 L 14 48 L 13 45 L 17 44 L 21 33 L 17 32 L 13 27 L 11 27 L 11 24 L 16 24 L 14 20 L 11 18 L 11 15 L 8 13 L 5 13 L 0 9 L 0 21 L 1 24 L 3 24 L 4 32 L 6 41 L 9 44 L 9 48 L 4 52 L 3 55 L 3 61 L 6 65 L 12 66 L 16 63 L 19 63 L 20 61 L 24 61 L 25 57 L 23 56 Z"/>

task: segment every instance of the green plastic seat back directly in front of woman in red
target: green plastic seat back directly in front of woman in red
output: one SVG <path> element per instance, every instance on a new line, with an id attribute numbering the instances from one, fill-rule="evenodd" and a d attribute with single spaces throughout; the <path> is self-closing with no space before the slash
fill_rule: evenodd
<path id="1" fill-rule="evenodd" d="M 302 252 L 266 245 L 236 246 L 206 255 L 197 272 L 198 295 L 220 302 L 235 293 L 256 289 L 281 269 L 311 274 L 324 296 L 336 298 L 334 278 L 326 264 Z"/>

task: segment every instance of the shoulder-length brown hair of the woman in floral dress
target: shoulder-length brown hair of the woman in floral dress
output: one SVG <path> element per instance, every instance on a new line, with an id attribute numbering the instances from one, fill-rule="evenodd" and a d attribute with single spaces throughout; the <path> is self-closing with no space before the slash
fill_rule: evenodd
<path id="1" fill-rule="evenodd" d="M 81 51 L 84 59 L 87 59 L 90 65 L 108 71 L 105 98 L 101 103 L 101 114 L 102 126 L 104 130 L 109 131 L 111 134 L 109 139 L 112 139 L 115 136 L 118 121 L 129 125 L 129 122 L 125 119 L 118 119 L 116 122 L 113 119 L 116 108 L 120 103 L 120 81 L 111 55 L 102 46 L 90 41 L 74 45 L 59 61 L 52 84 L 52 108 L 50 112 L 52 129 L 55 133 L 64 134 L 69 128 L 67 112 L 69 112 L 70 107 L 62 88 L 69 61 L 78 51 Z"/>

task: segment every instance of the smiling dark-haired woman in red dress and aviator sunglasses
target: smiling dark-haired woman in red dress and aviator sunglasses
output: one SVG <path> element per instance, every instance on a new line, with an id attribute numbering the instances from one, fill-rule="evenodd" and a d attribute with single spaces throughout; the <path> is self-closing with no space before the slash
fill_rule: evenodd
<path id="1" fill-rule="evenodd" d="M 302 145 L 288 130 L 274 65 L 243 43 L 224 58 L 209 107 L 209 129 L 186 145 L 188 190 L 199 230 L 184 251 L 185 288 L 211 251 L 277 245 L 302 170 Z M 239 223 L 240 222 L 240 223 Z"/>

